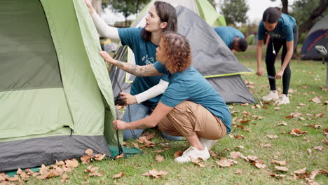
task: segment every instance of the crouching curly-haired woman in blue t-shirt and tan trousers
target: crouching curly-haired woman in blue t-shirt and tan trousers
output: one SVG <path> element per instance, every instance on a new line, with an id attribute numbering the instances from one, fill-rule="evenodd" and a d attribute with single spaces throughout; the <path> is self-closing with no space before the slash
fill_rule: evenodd
<path id="1" fill-rule="evenodd" d="M 191 67 L 191 48 L 181 34 L 163 32 L 156 48 L 155 64 L 138 66 L 119 62 L 106 52 L 100 55 L 106 62 L 135 76 L 168 74 L 169 85 L 151 116 L 125 123 L 113 121 L 115 129 L 158 128 L 168 135 L 184 136 L 191 145 L 178 163 L 191 158 L 210 158 L 205 140 L 221 139 L 231 130 L 231 113 L 224 100 L 205 78 Z M 200 140 L 203 139 L 202 141 Z"/>

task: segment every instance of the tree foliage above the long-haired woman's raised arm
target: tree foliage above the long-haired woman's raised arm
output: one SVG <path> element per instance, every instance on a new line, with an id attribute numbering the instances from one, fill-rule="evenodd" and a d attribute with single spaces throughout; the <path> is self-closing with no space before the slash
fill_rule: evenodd
<path id="1" fill-rule="evenodd" d="M 128 16 L 139 13 L 150 0 L 102 0 L 103 6 L 111 6 L 114 12 L 121 12 L 125 17 L 126 26 Z"/>

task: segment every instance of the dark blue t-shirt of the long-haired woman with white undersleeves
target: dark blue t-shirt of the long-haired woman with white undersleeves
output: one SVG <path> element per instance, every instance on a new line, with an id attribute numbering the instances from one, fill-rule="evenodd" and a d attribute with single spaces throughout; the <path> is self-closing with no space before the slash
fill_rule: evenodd
<path id="1" fill-rule="evenodd" d="M 157 46 L 152 42 L 145 42 L 144 39 L 142 39 L 141 31 L 142 27 L 118 28 L 118 35 L 120 36 L 123 46 L 128 45 L 135 54 L 135 64 L 141 66 L 153 64 L 156 62 L 155 54 Z M 160 79 L 168 81 L 168 75 L 146 77 L 136 76 L 131 85 L 131 95 L 137 95 L 148 90 L 154 85 L 157 85 Z M 147 106 L 156 106 L 161 96 L 162 95 L 153 97 L 145 102 L 142 102 L 142 104 Z"/>

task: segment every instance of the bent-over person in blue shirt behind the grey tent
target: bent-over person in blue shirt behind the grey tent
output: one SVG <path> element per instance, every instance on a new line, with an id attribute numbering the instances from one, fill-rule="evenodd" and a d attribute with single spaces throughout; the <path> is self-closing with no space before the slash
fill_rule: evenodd
<path id="1" fill-rule="evenodd" d="M 214 31 L 220 36 L 222 41 L 226 43 L 226 46 L 235 53 L 244 52 L 247 50 L 248 43 L 245 40 L 244 34 L 234 27 L 214 27 Z"/>

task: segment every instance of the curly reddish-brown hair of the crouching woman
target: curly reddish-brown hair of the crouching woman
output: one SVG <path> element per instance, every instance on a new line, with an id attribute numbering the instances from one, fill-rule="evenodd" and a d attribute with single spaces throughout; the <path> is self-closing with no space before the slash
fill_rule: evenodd
<path id="1" fill-rule="evenodd" d="M 186 37 L 182 34 L 166 31 L 163 32 L 162 39 L 163 49 L 168 55 L 165 66 L 171 74 L 182 72 L 191 67 L 191 48 Z"/>

